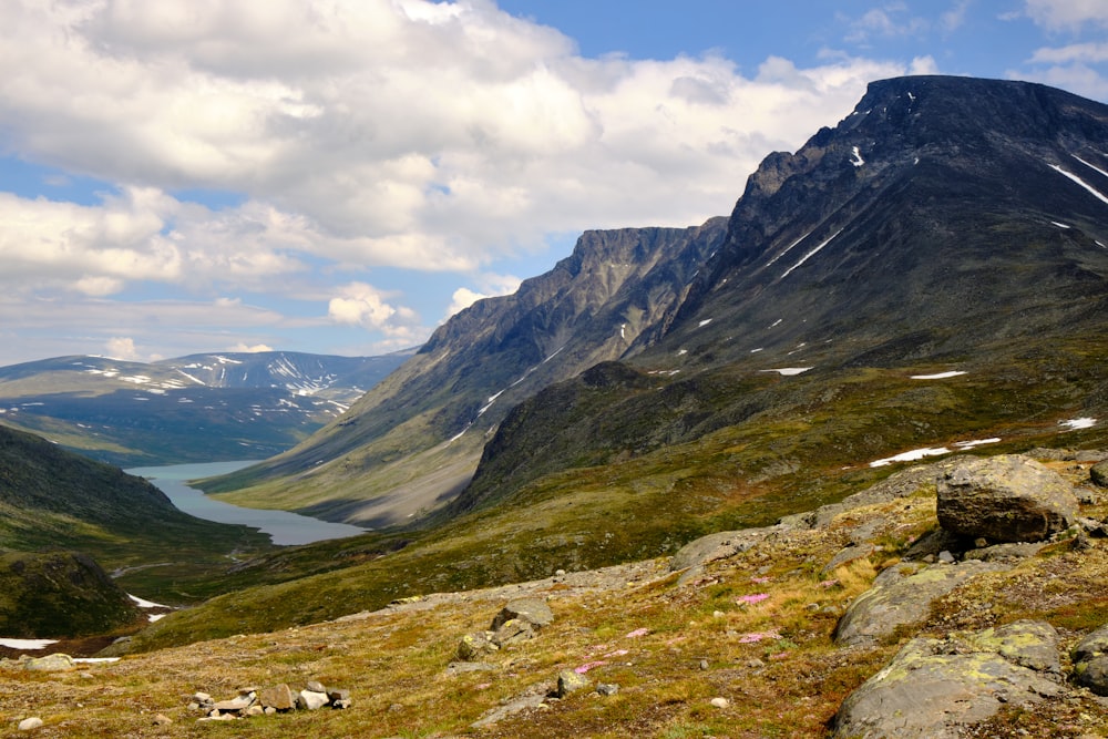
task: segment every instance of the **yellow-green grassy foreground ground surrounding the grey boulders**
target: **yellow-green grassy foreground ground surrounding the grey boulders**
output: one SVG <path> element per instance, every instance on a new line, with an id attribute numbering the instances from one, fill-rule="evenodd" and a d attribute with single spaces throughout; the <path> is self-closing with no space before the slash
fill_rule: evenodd
<path id="1" fill-rule="evenodd" d="M 1088 475 L 1087 464 L 1055 468 L 1075 482 Z M 1083 514 L 1102 517 L 1108 507 L 1086 506 Z M 90 667 L 91 678 L 0 668 L 0 725 L 40 716 L 44 730 L 79 738 L 203 730 L 275 739 L 814 739 L 827 736 L 842 699 L 913 636 L 945 638 L 958 629 L 1035 618 L 1059 630 L 1065 653 L 1102 623 L 1105 594 L 1095 584 L 1108 576 L 1108 548 L 1092 540 L 1077 552 L 1063 541 L 1012 571 L 940 598 L 911 633 L 873 647 L 834 646 L 832 634 L 847 605 L 934 525 L 934 491 L 921 487 L 844 512 L 822 528 L 766 538 L 687 581 L 669 572 L 667 558 L 650 560 L 428 595 L 351 619 L 131 656 Z M 880 548 L 822 572 L 860 528 L 884 532 Z M 536 638 L 488 657 L 484 670 L 448 668 L 462 635 L 488 628 L 503 604 L 521 595 L 546 598 L 554 623 Z M 583 690 L 545 699 L 543 708 L 513 710 L 542 700 L 561 670 L 579 670 L 594 686 L 614 684 L 618 691 L 602 697 Z M 311 679 L 349 689 L 352 708 L 201 727 L 194 722 L 199 714 L 186 706 L 196 690 L 219 699 L 239 686 L 299 688 Z M 719 698 L 726 702 L 714 705 Z M 472 727 L 496 711 L 499 720 Z M 152 727 L 155 714 L 173 723 Z M 1073 691 L 1034 710 L 1007 705 L 973 731 L 1040 739 L 1108 736 L 1108 709 L 1090 694 Z"/>

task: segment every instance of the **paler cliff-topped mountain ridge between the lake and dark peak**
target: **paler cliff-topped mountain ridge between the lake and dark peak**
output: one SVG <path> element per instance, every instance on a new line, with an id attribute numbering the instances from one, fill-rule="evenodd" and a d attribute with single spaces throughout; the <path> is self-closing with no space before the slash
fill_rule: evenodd
<path id="1" fill-rule="evenodd" d="M 468 483 L 514 403 L 652 340 L 724 227 L 584 234 L 552 271 L 449 320 L 341 419 L 209 490 L 253 486 L 232 500 L 370 525 L 435 507 Z"/>

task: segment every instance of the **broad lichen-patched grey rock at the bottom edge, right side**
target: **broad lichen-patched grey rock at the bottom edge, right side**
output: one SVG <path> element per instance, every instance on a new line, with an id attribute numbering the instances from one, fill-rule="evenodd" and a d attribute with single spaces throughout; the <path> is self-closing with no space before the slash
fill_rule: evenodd
<path id="1" fill-rule="evenodd" d="M 1055 697 L 1061 687 L 1028 664 L 1057 664 L 1057 635 L 1046 624 L 916 638 L 843 701 L 834 737 L 955 739 L 992 718 L 1003 704 Z"/>

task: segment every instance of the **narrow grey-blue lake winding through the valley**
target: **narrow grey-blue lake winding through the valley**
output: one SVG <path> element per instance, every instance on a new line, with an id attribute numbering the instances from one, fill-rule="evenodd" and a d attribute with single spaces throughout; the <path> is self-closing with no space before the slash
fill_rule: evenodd
<path id="1" fill-rule="evenodd" d="M 133 468 L 129 474 L 146 478 L 165 493 L 178 509 L 197 519 L 218 523 L 237 523 L 260 528 L 269 534 L 274 544 L 310 544 L 327 538 L 343 538 L 365 534 L 365 528 L 345 523 L 330 523 L 288 511 L 244 509 L 208 497 L 185 484 L 189 480 L 226 474 L 254 464 L 245 462 L 208 462 L 204 464 L 173 464 L 156 468 Z"/>

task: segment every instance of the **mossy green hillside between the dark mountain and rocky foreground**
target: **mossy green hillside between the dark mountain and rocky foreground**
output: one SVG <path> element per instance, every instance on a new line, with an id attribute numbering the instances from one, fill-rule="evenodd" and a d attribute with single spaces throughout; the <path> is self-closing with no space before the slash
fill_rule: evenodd
<path id="1" fill-rule="evenodd" d="M 950 368 L 813 369 L 796 377 L 716 372 L 660 389 L 623 372 L 620 382 L 592 378 L 592 384 L 561 386 L 517 411 L 546 414 L 545 422 L 532 418 L 527 425 L 547 429 L 543 438 L 512 438 L 511 420 L 505 422 L 501 456 L 516 469 L 535 465 L 526 484 L 502 495 L 494 479 L 486 484 L 479 478 L 482 494 L 437 527 L 297 547 L 246 563 L 243 574 L 256 573 L 255 582 L 269 584 L 176 614 L 144 639 L 154 647 L 274 629 L 427 592 L 663 556 L 702 534 L 765 525 L 840 500 L 899 466 L 871 462 L 914 449 L 955 452 L 958 442 L 993 439 L 998 441 L 986 453 L 1108 445 L 1104 423 L 1080 430 L 1060 423 L 1108 417 L 1096 355 L 1091 346 L 1057 347 L 1050 355 L 1023 356 L 1019 363 L 966 365 L 965 374 L 932 380 L 913 376 Z M 605 371 L 609 380 L 612 371 Z M 628 382 L 637 388 L 630 396 Z M 714 415 L 697 425 L 697 403 L 725 400 L 743 409 L 731 423 L 719 425 Z M 637 404 L 642 433 L 607 432 L 607 402 Z M 676 428 L 656 419 L 677 412 L 689 419 L 685 438 L 649 435 L 650 429 Z M 717 425 L 705 425 L 710 423 Z M 603 443 L 575 442 L 582 437 Z M 542 465 L 550 456 L 556 469 L 547 471 Z M 299 581 L 298 573 L 314 574 Z"/>

